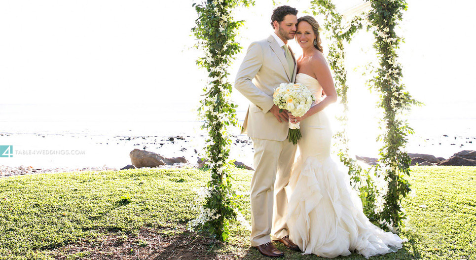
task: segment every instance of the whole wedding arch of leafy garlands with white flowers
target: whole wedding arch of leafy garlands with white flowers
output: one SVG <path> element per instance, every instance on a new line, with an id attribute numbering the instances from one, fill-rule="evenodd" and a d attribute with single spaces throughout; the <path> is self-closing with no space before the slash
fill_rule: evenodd
<path id="1" fill-rule="evenodd" d="M 343 15 L 336 11 L 331 0 L 312 0 L 314 15 L 324 15 L 323 24 L 330 50 L 327 55 L 334 76 L 337 93 L 341 99 L 344 113 L 339 116 L 342 124 L 334 135 L 334 143 L 340 144 L 338 155 L 349 166 L 352 186 L 359 191 L 364 212 L 374 223 L 386 230 L 399 232 L 405 219 L 401 207 L 403 197 L 410 191 L 405 176 L 410 172 L 410 158 L 404 151 L 406 136 L 412 133 L 404 120 L 404 112 L 411 105 L 418 104 L 400 82 L 402 67 L 397 61 L 397 50 L 402 38 L 395 33 L 395 27 L 402 20 L 406 10 L 405 0 L 365 0 L 349 13 L 366 10 L 345 23 Z M 188 224 L 190 231 L 196 228 L 208 230 L 220 241 L 229 236 L 228 225 L 231 218 L 246 222 L 235 199 L 237 194 L 231 184 L 232 166 L 228 158 L 231 138 L 228 127 L 238 126 L 236 107 L 230 94 L 232 85 L 227 81 L 227 69 L 233 56 L 241 46 L 235 42 L 238 28 L 244 21 L 235 21 L 232 10 L 238 5 L 254 5 L 252 0 L 206 0 L 193 3 L 198 19 L 192 32 L 197 39 L 196 47 L 204 56 L 197 65 L 206 69 L 209 77 L 204 87 L 199 114 L 204 119 L 202 128 L 207 129 L 209 138 L 206 154 L 211 177 L 200 189 L 195 200 L 199 214 Z M 367 10 L 368 9 L 368 10 Z M 347 14 L 349 15 L 349 14 Z M 373 47 L 377 51 L 379 65 L 373 68 L 368 79 L 379 95 L 378 107 L 382 115 L 383 134 L 379 137 L 384 146 L 380 149 L 380 163 L 371 171 L 360 167 L 351 158 L 347 148 L 347 89 L 344 41 L 350 42 L 352 36 L 363 28 L 373 33 Z"/>

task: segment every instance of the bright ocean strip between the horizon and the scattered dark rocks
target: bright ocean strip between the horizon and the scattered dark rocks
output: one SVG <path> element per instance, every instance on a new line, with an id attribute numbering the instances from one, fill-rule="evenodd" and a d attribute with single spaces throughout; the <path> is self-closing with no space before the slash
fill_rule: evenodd
<path id="1" fill-rule="evenodd" d="M 237 116 L 242 122 L 247 104 L 240 104 Z M 442 104 L 442 107 L 447 104 Z M 441 114 L 434 108 L 415 109 L 407 118 L 420 136 L 457 135 L 476 136 L 476 102 L 463 102 L 453 114 Z M 200 125 L 197 104 L 0 104 L 0 132 L 34 133 L 48 131 L 112 134 L 132 132 L 129 135 L 173 134 L 190 132 L 185 125 Z M 328 110 L 328 109 L 326 109 Z M 330 109 L 331 110 L 331 109 Z M 433 110 L 433 111 L 432 111 Z M 375 121 L 362 111 L 350 114 L 350 123 Z M 332 114 L 332 112 L 330 112 Z M 104 127 L 110 125 L 110 127 Z"/>

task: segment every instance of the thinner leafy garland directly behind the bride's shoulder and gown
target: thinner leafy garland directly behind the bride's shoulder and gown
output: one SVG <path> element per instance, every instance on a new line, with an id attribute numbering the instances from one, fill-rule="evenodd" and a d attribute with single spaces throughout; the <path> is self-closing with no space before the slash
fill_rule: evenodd
<path id="1" fill-rule="evenodd" d="M 376 186 L 371 176 L 370 171 L 362 168 L 357 160 L 349 155 L 348 137 L 347 137 L 347 123 L 348 123 L 348 101 L 347 101 L 347 71 L 344 66 L 344 40 L 350 42 L 352 36 L 363 28 L 365 23 L 365 14 L 354 17 L 349 24 L 344 24 L 342 16 L 336 11 L 335 5 L 330 0 L 312 0 L 311 1 L 313 14 L 323 15 L 325 17 L 323 28 L 326 38 L 329 40 L 329 50 L 327 60 L 330 68 L 333 71 L 334 85 L 337 95 L 340 97 L 340 104 L 343 111 L 336 119 L 340 122 L 340 129 L 335 132 L 334 146 L 337 147 L 337 155 L 340 161 L 349 167 L 348 174 L 350 175 L 351 186 L 358 192 L 364 213 L 370 221 L 377 223 L 378 219 L 375 216 L 375 196 Z"/>

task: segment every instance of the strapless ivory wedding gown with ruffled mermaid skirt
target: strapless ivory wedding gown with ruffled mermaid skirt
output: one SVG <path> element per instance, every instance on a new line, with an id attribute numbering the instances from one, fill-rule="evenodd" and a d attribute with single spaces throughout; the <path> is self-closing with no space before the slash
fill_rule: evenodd
<path id="1" fill-rule="evenodd" d="M 319 99 L 318 80 L 299 73 L 296 82 Z M 362 201 L 350 187 L 348 168 L 330 158 L 332 132 L 325 110 L 300 122 L 300 155 L 293 165 L 287 224 L 289 238 L 303 254 L 325 258 L 348 256 L 351 251 L 366 258 L 402 248 L 401 239 L 368 221 Z"/>

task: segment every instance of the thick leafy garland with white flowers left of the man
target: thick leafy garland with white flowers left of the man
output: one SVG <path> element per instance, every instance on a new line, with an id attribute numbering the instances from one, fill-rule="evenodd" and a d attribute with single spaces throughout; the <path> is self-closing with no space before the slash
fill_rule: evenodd
<path id="1" fill-rule="evenodd" d="M 227 69 L 233 56 L 241 47 L 235 42 L 237 29 L 243 21 L 233 21 L 231 10 L 237 5 L 249 6 L 251 0 L 207 0 L 193 3 L 198 13 L 196 26 L 192 32 L 197 39 L 195 46 L 203 50 L 205 56 L 197 60 L 197 65 L 209 73 L 209 83 L 203 89 L 205 94 L 198 109 L 204 119 L 202 129 L 208 130 L 206 155 L 211 178 L 201 188 L 195 198 L 194 208 L 199 216 L 188 223 L 188 230 L 201 227 L 220 241 L 229 236 L 229 219 L 243 215 L 235 202 L 238 197 L 232 189 L 231 162 L 228 155 L 231 137 L 229 126 L 238 126 L 236 107 L 231 99 L 231 84 L 227 81 Z"/>

